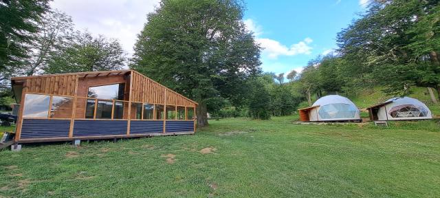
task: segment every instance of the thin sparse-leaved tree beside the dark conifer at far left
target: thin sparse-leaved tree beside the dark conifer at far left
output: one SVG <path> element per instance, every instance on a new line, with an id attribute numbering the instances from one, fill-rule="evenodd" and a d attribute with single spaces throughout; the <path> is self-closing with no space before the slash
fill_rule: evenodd
<path id="1" fill-rule="evenodd" d="M 28 53 L 26 76 L 44 70 L 51 54 L 63 50 L 72 39 L 74 23 L 70 16 L 58 10 L 50 10 L 43 15 L 39 23 L 39 32 L 36 33 L 32 50 Z"/>

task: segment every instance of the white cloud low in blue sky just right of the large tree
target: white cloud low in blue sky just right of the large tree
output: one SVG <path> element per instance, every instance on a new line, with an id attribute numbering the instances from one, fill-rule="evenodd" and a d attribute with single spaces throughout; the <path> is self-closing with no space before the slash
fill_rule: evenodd
<path id="1" fill-rule="evenodd" d="M 256 42 L 263 47 L 263 55 L 276 59 L 278 56 L 295 56 L 297 54 L 311 54 L 311 49 L 308 44 L 313 42 L 310 38 L 305 38 L 303 41 L 290 45 L 281 44 L 278 41 L 272 39 L 256 39 Z"/>

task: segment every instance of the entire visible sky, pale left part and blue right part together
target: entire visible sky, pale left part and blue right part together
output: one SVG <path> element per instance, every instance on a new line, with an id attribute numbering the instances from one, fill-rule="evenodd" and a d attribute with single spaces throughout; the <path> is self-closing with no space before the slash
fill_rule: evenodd
<path id="1" fill-rule="evenodd" d="M 336 34 L 347 28 L 369 0 L 260 1 L 245 0 L 243 22 L 263 51 L 261 67 L 276 74 L 300 72 L 312 58 L 332 53 Z M 270 3 L 269 3 L 270 2 Z M 78 30 L 118 39 L 131 56 L 133 46 L 159 0 L 54 0 Z"/>

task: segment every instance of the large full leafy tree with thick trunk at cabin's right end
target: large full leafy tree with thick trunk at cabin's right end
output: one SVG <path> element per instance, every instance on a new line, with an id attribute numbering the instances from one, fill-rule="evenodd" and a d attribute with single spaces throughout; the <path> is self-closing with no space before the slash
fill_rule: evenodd
<path id="1" fill-rule="evenodd" d="M 245 80 L 261 72 L 242 17 L 234 0 L 164 0 L 148 14 L 130 67 L 197 101 L 197 124 L 206 126 L 219 107 L 212 101 L 243 105 Z"/>

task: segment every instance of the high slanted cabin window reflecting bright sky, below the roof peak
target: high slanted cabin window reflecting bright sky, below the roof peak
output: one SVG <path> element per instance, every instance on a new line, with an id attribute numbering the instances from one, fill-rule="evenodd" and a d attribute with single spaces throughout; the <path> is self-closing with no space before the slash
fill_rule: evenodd
<path id="1" fill-rule="evenodd" d="M 88 98 L 124 100 L 125 83 L 89 87 Z"/>

